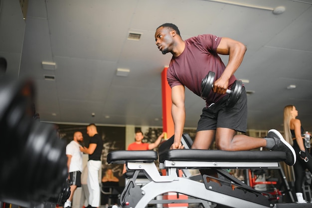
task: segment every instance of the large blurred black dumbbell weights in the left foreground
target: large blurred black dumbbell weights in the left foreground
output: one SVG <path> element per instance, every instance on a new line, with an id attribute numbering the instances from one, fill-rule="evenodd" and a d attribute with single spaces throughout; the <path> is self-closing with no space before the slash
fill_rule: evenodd
<path id="1" fill-rule="evenodd" d="M 0 79 L 1 142 L 5 147 L 0 151 L 0 201 L 23 207 L 33 207 L 29 202 L 46 202 L 53 195 L 57 203 L 64 202 L 70 193 L 68 185 L 62 190 L 68 177 L 66 145 L 58 140 L 53 124 L 32 119 L 34 92 L 31 80 Z"/>

